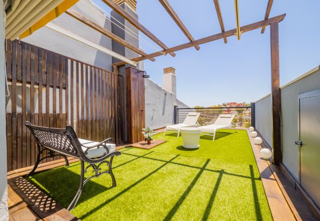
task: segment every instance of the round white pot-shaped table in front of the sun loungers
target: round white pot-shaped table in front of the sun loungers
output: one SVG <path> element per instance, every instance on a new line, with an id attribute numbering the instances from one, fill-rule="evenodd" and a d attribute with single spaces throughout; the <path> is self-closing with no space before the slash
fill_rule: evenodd
<path id="1" fill-rule="evenodd" d="M 188 149 L 199 148 L 201 129 L 198 127 L 185 127 L 180 129 L 183 147 Z"/>

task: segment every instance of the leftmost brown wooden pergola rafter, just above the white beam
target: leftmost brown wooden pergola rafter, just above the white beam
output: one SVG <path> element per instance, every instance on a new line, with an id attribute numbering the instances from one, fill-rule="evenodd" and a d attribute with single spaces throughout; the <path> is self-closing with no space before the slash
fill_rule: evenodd
<path id="1" fill-rule="evenodd" d="M 107 30 L 106 28 L 103 28 L 103 27 L 99 26 L 98 24 L 96 24 L 91 19 L 81 15 L 79 12 L 77 12 L 75 10 L 72 10 L 72 9 L 69 9 L 69 10 L 65 11 L 65 13 L 67 15 L 71 16 L 72 18 L 75 18 L 76 20 L 82 22 L 86 26 L 95 29 L 96 31 L 98 31 L 101 34 L 103 34 L 104 36 L 106 36 L 108 38 L 111 38 L 112 40 L 118 42 L 119 44 L 131 49 L 132 51 L 138 53 L 139 55 L 147 55 L 147 53 L 145 53 L 141 49 L 135 47 L 134 45 L 132 45 L 129 42 L 125 41 L 121 37 L 115 35 L 114 33 L 112 33 L 111 31 Z M 155 61 L 156 59 L 155 58 L 150 58 L 150 60 Z"/>

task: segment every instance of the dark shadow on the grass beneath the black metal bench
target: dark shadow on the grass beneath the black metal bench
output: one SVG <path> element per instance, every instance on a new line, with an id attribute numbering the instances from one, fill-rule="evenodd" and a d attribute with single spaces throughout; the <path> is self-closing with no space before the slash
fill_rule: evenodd
<path id="1" fill-rule="evenodd" d="M 80 173 L 80 165 L 72 166 L 79 166 Z M 92 175 L 90 169 L 88 169 L 87 174 Z M 104 175 L 109 176 L 110 178 L 107 180 L 109 187 L 102 186 L 96 182 L 93 182 L 92 180 L 89 180 L 84 186 L 77 204 L 85 202 L 86 200 L 112 188 L 112 180 L 110 175 Z M 47 195 L 55 199 L 64 208 L 67 208 L 78 191 L 80 174 L 72 172 L 67 167 L 59 167 L 34 174 L 31 177 L 28 177 L 27 180 L 37 188 L 43 190 L 43 192 L 45 192 Z M 39 186 L 35 181 L 41 186 Z"/>

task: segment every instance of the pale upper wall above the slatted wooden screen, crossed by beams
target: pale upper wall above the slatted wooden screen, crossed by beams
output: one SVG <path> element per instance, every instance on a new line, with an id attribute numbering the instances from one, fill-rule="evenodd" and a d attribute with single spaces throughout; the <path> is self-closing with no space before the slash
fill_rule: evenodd
<path id="1" fill-rule="evenodd" d="M 87 18 L 95 21 L 98 25 L 111 31 L 111 22 L 106 19 L 106 16 L 94 4 L 92 4 L 91 0 L 78 1 L 71 9 L 78 11 Z M 110 38 L 65 13 L 53 20 L 52 23 L 112 50 Z M 110 55 L 106 55 L 105 53 L 46 27 L 36 30 L 32 35 L 22 39 L 22 41 L 109 71 L 112 70 L 112 57 Z"/>

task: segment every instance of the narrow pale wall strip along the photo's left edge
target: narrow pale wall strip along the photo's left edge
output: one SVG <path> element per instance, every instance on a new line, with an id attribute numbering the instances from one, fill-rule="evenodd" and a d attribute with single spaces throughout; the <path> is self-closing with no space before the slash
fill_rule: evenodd
<path id="1" fill-rule="evenodd" d="M 0 1 L 0 104 L 5 104 L 5 49 L 4 49 L 4 10 Z M 0 220 L 8 220 L 7 192 L 7 151 L 5 133 L 5 106 L 0 105 Z M 3 145 L 4 144 L 4 145 Z"/>

